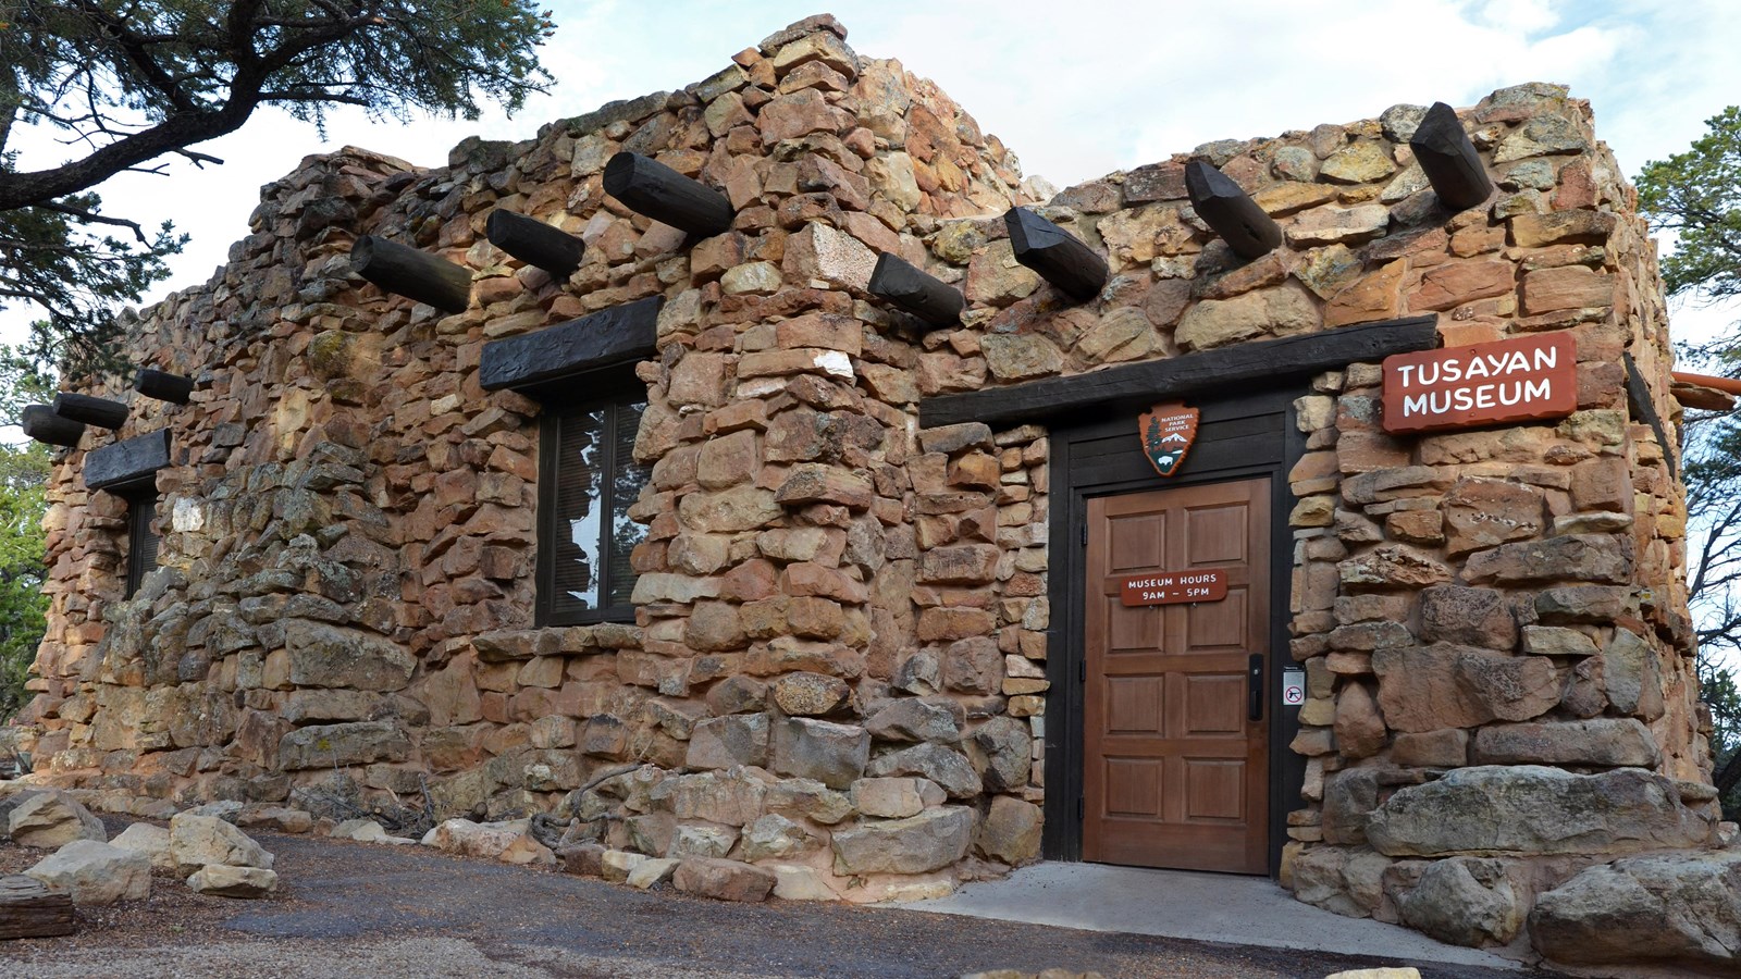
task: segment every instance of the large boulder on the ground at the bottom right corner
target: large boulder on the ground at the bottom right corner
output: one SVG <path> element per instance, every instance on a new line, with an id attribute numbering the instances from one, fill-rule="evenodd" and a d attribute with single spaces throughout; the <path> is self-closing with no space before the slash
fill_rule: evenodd
<path id="1" fill-rule="evenodd" d="M 1741 852 L 1628 857 L 1536 899 L 1530 941 L 1548 962 L 1741 969 Z"/>

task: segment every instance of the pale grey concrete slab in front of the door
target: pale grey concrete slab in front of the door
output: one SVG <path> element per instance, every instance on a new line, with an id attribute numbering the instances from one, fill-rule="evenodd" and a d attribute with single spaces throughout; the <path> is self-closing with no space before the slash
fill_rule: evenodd
<path id="1" fill-rule="evenodd" d="M 1489 951 L 1301 904 L 1260 876 L 1043 862 L 1005 880 L 970 883 L 949 897 L 902 908 L 1093 932 L 1523 970 Z"/>

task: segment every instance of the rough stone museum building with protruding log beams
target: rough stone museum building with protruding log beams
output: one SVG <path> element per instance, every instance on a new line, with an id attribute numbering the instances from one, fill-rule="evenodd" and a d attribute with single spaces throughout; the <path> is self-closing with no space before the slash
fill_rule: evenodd
<path id="1" fill-rule="evenodd" d="M 125 425 L 57 460 L 35 777 L 555 814 L 850 901 L 1041 857 L 1274 874 L 1562 960 L 1600 944 L 1553 916 L 1586 868 L 1718 845 L 1663 291 L 1586 103 L 1457 113 L 1464 209 L 1419 106 L 1052 193 L 844 33 L 266 185 L 209 284 L 129 321 L 190 401 L 92 392 Z M 606 193 L 623 152 L 729 230 Z M 1280 246 L 1234 253 L 1191 160 Z M 1017 261 L 1018 206 L 1104 279 Z M 498 249 L 498 209 L 578 267 Z M 362 235 L 463 267 L 463 310 L 357 277 Z M 959 315 L 874 294 L 879 254 Z M 1461 371 L 1556 350 L 1556 413 L 1396 430 L 1386 359 L 1496 341 Z M 1161 477 L 1166 402 L 1198 416 Z"/>

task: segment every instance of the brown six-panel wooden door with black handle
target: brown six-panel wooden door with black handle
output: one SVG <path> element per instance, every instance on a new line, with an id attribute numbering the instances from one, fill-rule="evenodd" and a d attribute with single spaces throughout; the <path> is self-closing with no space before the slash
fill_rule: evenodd
<path id="1" fill-rule="evenodd" d="M 1269 653 L 1269 479 L 1092 498 L 1086 568 L 1083 859 L 1266 873 L 1269 709 L 1250 719 L 1247 672 Z M 1227 598 L 1121 604 L 1130 575 L 1208 568 Z"/>

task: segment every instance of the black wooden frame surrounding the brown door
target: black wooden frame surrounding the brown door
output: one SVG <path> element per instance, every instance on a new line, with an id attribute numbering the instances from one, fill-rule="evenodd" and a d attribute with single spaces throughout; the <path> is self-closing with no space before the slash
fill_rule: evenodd
<path id="1" fill-rule="evenodd" d="M 1306 451 L 1294 399 L 1304 383 L 1226 399 L 1193 399 L 1201 409 L 1198 441 L 1172 477 L 1156 476 L 1142 456 L 1132 416 L 1078 418 L 1050 432 L 1050 538 L 1048 598 L 1052 627 L 1046 634 L 1046 800 L 1041 854 L 1050 861 L 1079 861 L 1083 843 L 1083 650 L 1085 542 L 1090 496 L 1170 490 L 1231 479 L 1267 477 L 1271 484 L 1271 613 L 1269 658 L 1264 671 L 1264 709 L 1269 711 L 1269 873 L 1281 866 L 1287 814 L 1297 805 L 1306 760 L 1288 751 L 1299 733 L 1299 712 L 1281 707 L 1283 665 L 1288 657 L 1294 533 L 1287 514 L 1294 507 L 1288 470 Z M 1161 401 L 1156 395 L 1156 401 Z M 1086 456 L 1088 442 L 1126 439 L 1119 455 Z M 1217 446 L 1217 441 L 1222 444 Z"/>

